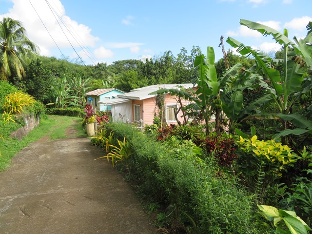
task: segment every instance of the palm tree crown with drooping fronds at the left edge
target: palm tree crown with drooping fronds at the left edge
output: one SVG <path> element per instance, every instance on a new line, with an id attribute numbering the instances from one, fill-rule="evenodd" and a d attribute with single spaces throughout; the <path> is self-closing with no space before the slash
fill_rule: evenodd
<path id="1" fill-rule="evenodd" d="M 0 79 L 7 80 L 12 74 L 24 77 L 25 65 L 38 51 L 38 46 L 26 37 L 20 21 L 11 18 L 0 21 Z"/>

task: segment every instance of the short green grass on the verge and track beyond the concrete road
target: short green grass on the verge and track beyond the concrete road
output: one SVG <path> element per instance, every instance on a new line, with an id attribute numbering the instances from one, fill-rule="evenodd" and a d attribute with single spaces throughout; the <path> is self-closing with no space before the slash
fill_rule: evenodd
<path id="1" fill-rule="evenodd" d="M 22 140 L 11 139 L 9 133 L 4 133 L 0 139 L 0 171 L 7 169 L 11 165 L 11 158 L 14 157 L 22 148 L 31 142 L 48 136 L 49 140 L 62 139 L 66 137 L 85 137 L 85 130 L 80 124 L 81 118 L 68 116 L 49 116 L 41 119 L 39 127 L 35 128 L 28 136 Z M 66 128 L 75 128 L 76 134 L 66 136 Z"/>

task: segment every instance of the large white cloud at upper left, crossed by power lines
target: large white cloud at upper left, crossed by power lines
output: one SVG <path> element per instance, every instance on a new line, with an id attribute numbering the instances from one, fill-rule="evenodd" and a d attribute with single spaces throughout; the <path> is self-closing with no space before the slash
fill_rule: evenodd
<path id="1" fill-rule="evenodd" d="M 32 4 L 30 1 L 26 0 L 11 1 L 13 2 L 13 7 L 9 9 L 8 13 L 0 15 L 0 19 L 10 17 L 15 20 L 20 20 L 27 31 L 28 38 L 40 45 L 41 55 L 49 55 L 50 49 L 56 48 L 53 39 L 60 49 L 71 47 L 46 1 L 32 0 Z M 84 46 L 95 46 L 95 42 L 98 38 L 91 35 L 91 29 L 88 26 L 79 24 L 77 21 L 66 16 L 64 6 L 61 4 L 60 0 L 49 0 L 48 3 L 50 3 L 50 7 L 54 9 L 55 15 L 57 14 L 60 16 L 61 20 L 66 24 L 71 34 L 74 35 L 80 44 Z M 43 26 L 33 7 L 38 12 L 39 17 L 53 39 L 51 39 L 51 36 Z M 58 19 L 68 39 L 74 47 L 78 47 L 78 42 L 70 35 L 61 20 Z"/>

